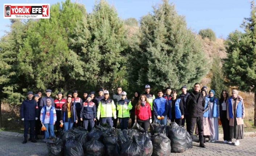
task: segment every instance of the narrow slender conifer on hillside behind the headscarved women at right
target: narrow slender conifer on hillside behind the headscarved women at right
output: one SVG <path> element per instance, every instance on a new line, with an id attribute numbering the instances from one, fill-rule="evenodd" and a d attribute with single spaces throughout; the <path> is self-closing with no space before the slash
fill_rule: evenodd
<path id="1" fill-rule="evenodd" d="M 215 96 L 220 99 L 222 90 L 227 90 L 227 87 L 224 81 L 222 62 L 218 56 L 215 56 L 213 59 L 211 72 L 212 78 L 210 88 L 215 91 Z"/>

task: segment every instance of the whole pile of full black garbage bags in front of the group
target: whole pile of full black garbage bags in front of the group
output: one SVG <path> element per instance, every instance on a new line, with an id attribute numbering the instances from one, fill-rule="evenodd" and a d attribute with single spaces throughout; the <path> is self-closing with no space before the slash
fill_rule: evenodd
<path id="1" fill-rule="evenodd" d="M 137 123 L 123 131 L 108 124 L 90 132 L 78 127 L 44 141 L 49 156 L 170 156 L 192 148 L 191 136 L 175 122 L 170 126 L 152 123 L 150 133 Z"/>

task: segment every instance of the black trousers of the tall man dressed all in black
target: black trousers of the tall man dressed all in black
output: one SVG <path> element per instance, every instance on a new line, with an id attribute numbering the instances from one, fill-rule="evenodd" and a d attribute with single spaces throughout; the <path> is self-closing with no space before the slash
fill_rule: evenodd
<path id="1" fill-rule="evenodd" d="M 189 120 L 190 123 L 189 126 L 187 126 L 187 132 L 189 132 L 191 138 L 193 139 L 194 128 L 195 124 L 197 123 L 199 141 L 203 143 L 203 117 L 189 117 Z"/>

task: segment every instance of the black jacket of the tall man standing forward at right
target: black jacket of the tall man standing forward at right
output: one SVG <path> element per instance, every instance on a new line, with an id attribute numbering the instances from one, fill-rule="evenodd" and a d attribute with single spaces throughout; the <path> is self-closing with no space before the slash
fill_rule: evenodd
<path id="1" fill-rule="evenodd" d="M 186 100 L 186 109 L 190 117 L 203 117 L 203 110 L 205 107 L 205 97 L 199 93 L 198 101 L 192 92 Z"/>

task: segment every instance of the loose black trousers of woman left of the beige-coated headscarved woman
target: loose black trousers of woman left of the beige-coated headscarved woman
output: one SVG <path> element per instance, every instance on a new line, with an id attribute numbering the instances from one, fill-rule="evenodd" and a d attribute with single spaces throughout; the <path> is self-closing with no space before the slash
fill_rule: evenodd
<path id="1" fill-rule="evenodd" d="M 226 110 L 220 110 L 222 111 L 222 114 L 220 115 L 220 121 L 223 128 L 223 139 L 227 140 L 228 142 L 231 142 L 232 139 L 230 138 L 230 126 L 229 126 L 229 120 L 227 119 L 227 111 Z"/>

